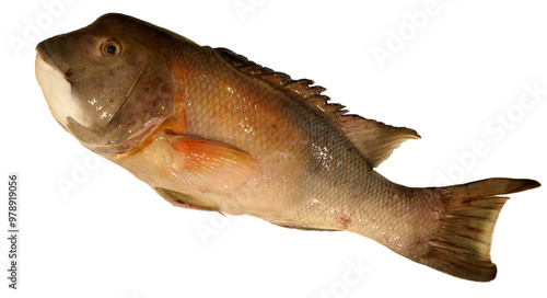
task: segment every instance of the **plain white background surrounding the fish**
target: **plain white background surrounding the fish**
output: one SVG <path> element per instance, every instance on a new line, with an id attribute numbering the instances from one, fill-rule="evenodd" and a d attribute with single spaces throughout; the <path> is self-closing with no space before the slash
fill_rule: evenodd
<path id="1" fill-rule="evenodd" d="M 211 213 L 173 208 L 124 169 L 93 163 L 51 117 L 34 78 L 37 42 L 123 12 L 313 79 L 352 113 L 416 129 L 422 139 L 404 144 L 377 169 L 392 181 L 546 183 L 547 95 L 534 106 L 519 101 L 525 85 L 547 89 L 545 2 L 433 1 L 422 28 L 408 15 L 430 12 L 427 1 L 176 2 L 73 1 L 54 12 L 40 1 L 4 3 L 0 164 L 4 180 L 21 176 L 21 289 L 1 277 L 0 297 L 545 297 L 545 186 L 512 195 L 502 210 L 491 252 L 498 277 L 466 282 L 357 234 L 282 229 L 246 216 L 218 221 Z M 28 34 L 34 25 L 38 32 Z M 389 50 L 388 43 L 393 49 L 389 32 L 406 39 L 381 68 L 373 49 Z M 508 113 L 511 128 L 498 123 Z M 472 153 L 477 142 L 486 152 Z M 79 167 L 88 174 L 74 179 Z M 63 195 L 63 180 L 78 188 Z M 0 226 L 8 230 L 1 197 Z M 348 285 L 348 263 L 369 271 Z"/>

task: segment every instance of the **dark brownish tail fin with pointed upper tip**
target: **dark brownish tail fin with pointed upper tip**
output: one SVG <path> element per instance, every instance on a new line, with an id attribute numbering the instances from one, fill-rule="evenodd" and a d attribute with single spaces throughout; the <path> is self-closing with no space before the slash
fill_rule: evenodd
<path id="1" fill-rule="evenodd" d="M 429 188 L 443 210 L 429 238 L 427 252 L 417 260 L 441 272 L 476 282 L 496 277 L 490 261 L 493 227 L 511 194 L 538 187 L 534 180 L 488 179 L 462 185 Z"/>

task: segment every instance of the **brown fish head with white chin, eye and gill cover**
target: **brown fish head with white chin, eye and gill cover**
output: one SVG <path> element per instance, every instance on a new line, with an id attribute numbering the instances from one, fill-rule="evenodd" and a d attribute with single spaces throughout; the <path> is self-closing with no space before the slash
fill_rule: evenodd
<path id="1" fill-rule="evenodd" d="M 172 37 L 110 13 L 39 43 L 36 79 L 53 116 L 97 153 L 135 148 L 173 114 Z"/>

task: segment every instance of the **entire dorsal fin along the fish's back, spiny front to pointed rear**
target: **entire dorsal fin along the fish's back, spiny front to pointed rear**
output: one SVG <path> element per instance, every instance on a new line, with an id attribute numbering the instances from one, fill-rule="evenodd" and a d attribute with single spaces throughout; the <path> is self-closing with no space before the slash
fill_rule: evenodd
<path id="1" fill-rule="evenodd" d="M 326 89 L 313 85 L 312 80 L 293 80 L 287 73 L 257 65 L 228 48 L 216 48 L 214 50 L 240 71 L 258 78 L 279 90 L 298 94 L 300 96 L 296 98 L 310 102 L 330 115 L 340 124 L 346 136 L 372 168 L 376 168 L 386 160 L 403 141 L 420 138 L 416 130 L 410 128 L 395 127 L 358 115 L 346 115 L 348 111 L 344 110 L 345 106 L 338 103 L 328 103 L 330 99 L 321 94 Z"/>

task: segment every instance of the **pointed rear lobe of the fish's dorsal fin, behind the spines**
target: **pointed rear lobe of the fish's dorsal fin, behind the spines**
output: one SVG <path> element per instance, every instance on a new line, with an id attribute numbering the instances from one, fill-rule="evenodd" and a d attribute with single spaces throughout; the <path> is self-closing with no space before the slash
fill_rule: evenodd
<path id="1" fill-rule="evenodd" d="M 386 160 L 407 139 L 419 139 L 416 130 L 395 127 L 358 115 L 340 117 L 342 130 L 372 168 Z"/>

